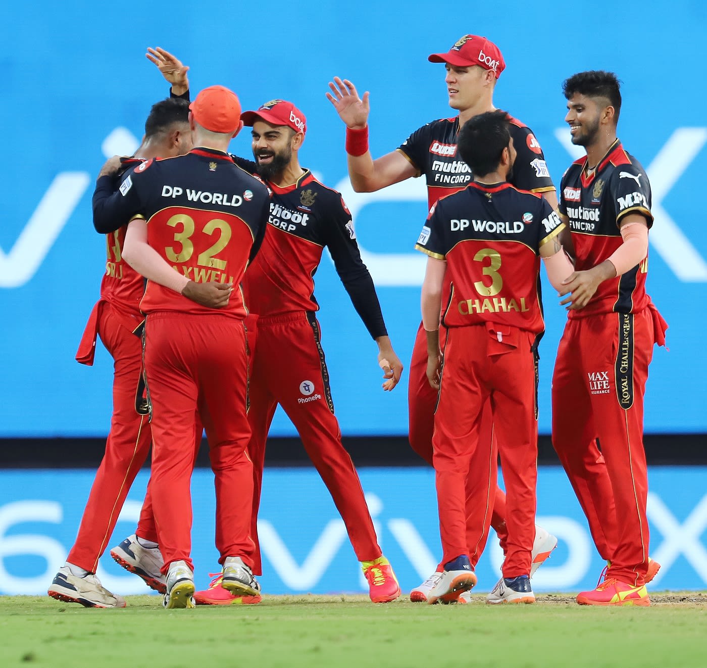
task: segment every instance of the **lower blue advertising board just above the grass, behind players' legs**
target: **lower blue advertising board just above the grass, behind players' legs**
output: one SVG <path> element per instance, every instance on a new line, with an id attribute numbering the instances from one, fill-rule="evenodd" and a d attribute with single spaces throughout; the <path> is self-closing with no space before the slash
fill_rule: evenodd
<path id="1" fill-rule="evenodd" d="M 404 592 L 434 572 L 440 539 L 431 468 L 364 468 L 361 484 L 380 546 Z M 650 589 L 707 587 L 707 468 L 653 468 L 649 473 L 650 554 L 662 565 Z M 44 594 L 71 548 L 93 481 L 90 471 L 0 472 L 0 594 Z M 147 476 L 140 473 L 119 517 L 110 547 L 134 533 Z M 675 490 L 680 490 L 677 495 Z M 218 570 L 214 548 L 214 483 L 210 471 L 192 478 L 192 558 L 197 587 Z M 558 547 L 533 577 L 536 592 L 595 587 L 604 563 L 564 471 L 538 471 L 537 524 Z M 317 472 L 267 469 L 258 522 L 266 594 L 367 592 L 356 555 Z M 477 565 L 477 590 L 498 580 L 503 555 L 491 531 Z M 109 555 L 100 561 L 103 584 L 120 594 L 147 589 Z"/>

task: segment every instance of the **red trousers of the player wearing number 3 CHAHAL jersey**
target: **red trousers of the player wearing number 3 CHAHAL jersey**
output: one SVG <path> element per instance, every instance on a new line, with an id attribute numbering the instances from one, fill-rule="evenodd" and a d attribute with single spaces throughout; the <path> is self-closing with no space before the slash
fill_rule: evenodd
<path id="1" fill-rule="evenodd" d="M 478 422 L 490 401 L 508 508 L 503 577 L 530 574 L 537 480 L 533 342 L 530 332 L 494 323 L 448 330 L 433 436 L 443 563 L 471 557 L 472 549 L 480 555 L 486 543 L 496 458 L 491 442 L 479 439 Z M 486 484 L 467 495 L 474 469 L 484 471 Z"/>

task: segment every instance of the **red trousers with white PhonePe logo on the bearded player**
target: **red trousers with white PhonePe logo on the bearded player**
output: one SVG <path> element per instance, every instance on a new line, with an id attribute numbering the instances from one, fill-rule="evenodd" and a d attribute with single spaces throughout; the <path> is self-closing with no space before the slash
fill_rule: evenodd
<path id="1" fill-rule="evenodd" d="M 250 334 L 255 321 L 247 320 Z M 257 542 L 257 513 L 265 459 L 265 443 L 277 404 L 295 425 L 305 451 L 322 476 L 344 520 L 359 561 L 381 555 L 361 481 L 351 456 L 341 444 L 339 422 L 329 390 L 329 372 L 314 313 L 294 311 L 257 318 L 252 351 L 250 410 L 252 437 L 248 446 L 253 461 L 255 495 L 251 535 L 256 543 L 256 575 L 262 574 Z"/>

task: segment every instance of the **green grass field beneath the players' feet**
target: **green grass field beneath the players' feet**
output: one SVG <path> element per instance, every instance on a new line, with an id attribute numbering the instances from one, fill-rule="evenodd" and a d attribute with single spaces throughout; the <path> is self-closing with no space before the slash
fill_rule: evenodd
<path id="1" fill-rule="evenodd" d="M 0 667 L 703 667 L 707 594 L 651 594 L 650 608 L 428 606 L 365 597 L 265 597 L 255 606 L 120 610 L 0 597 Z"/>

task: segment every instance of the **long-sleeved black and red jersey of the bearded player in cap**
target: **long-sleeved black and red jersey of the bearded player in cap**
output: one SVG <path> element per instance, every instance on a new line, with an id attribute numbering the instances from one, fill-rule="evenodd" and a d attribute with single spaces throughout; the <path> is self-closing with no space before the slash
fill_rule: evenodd
<path id="1" fill-rule="evenodd" d="M 255 163 L 233 156 L 247 171 Z M 354 308 L 373 338 L 386 335 L 378 296 L 356 243 L 351 213 L 341 194 L 305 171 L 296 183 L 271 190 L 267 234 L 245 273 L 248 309 L 258 316 L 317 311 L 314 275 L 329 249 Z"/>

